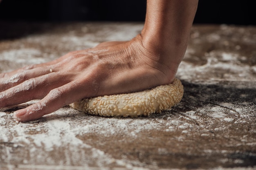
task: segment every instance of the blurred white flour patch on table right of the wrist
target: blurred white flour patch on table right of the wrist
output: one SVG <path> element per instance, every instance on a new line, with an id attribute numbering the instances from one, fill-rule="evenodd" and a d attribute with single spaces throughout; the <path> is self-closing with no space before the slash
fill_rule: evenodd
<path id="1" fill-rule="evenodd" d="M 190 48 L 188 51 L 191 51 Z M 184 59 L 193 58 L 190 53 L 193 51 L 187 52 Z M 178 68 L 177 77 L 180 79 L 205 80 L 210 78 L 211 80 L 235 81 L 239 76 L 242 81 L 255 81 L 254 67 L 241 64 L 238 57 L 237 53 L 213 51 L 208 54 L 207 63 L 202 66 L 193 66 L 184 60 Z M 220 78 L 220 76 L 222 77 Z"/>

